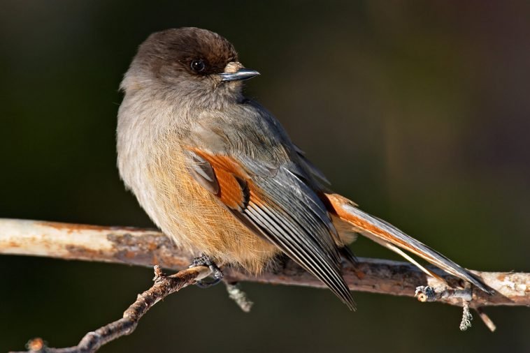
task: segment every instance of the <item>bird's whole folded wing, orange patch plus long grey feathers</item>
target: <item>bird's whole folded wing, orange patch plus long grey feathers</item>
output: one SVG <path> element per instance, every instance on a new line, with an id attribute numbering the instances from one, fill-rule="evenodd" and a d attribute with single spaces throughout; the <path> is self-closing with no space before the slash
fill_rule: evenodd
<path id="1" fill-rule="evenodd" d="M 189 170 L 257 234 L 322 280 L 350 309 L 354 302 L 341 276 L 336 230 L 316 193 L 289 165 L 272 168 L 245 156 L 190 148 Z"/>

